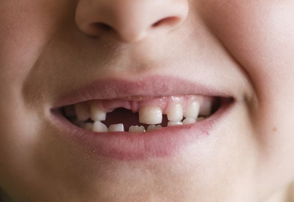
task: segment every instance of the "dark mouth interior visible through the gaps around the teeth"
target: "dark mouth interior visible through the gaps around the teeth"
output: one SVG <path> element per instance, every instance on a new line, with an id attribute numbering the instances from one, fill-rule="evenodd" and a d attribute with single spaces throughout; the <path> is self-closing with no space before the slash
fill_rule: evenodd
<path id="1" fill-rule="evenodd" d="M 212 106 L 212 113 L 211 115 L 213 115 L 215 112 L 218 111 L 218 109 L 220 109 L 221 105 L 224 102 L 228 102 L 230 101 L 229 98 L 220 98 L 220 97 L 216 97 L 214 99 L 213 102 L 213 106 Z M 64 108 L 61 109 L 63 116 L 65 116 L 68 120 L 70 120 L 73 123 L 73 118 L 72 117 L 67 117 L 65 115 L 64 112 Z M 205 118 L 205 117 L 204 117 Z M 90 118 L 85 121 L 85 122 L 89 122 L 89 123 L 93 123 L 94 121 L 91 120 Z M 144 126 L 145 128 L 148 127 L 147 124 L 142 124 L 139 122 L 139 113 L 138 112 L 131 112 L 130 110 L 124 109 L 124 108 L 117 108 L 115 109 L 113 112 L 108 112 L 107 113 L 107 118 L 105 121 L 101 121 L 103 124 L 105 124 L 107 127 L 109 127 L 112 124 L 119 124 L 119 123 L 123 123 L 124 128 L 126 130 L 128 130 L 128 128 L 130 126 Z M 73 123 L 76 125 L 76 123 Z M 163 114 L 163 119 L 162 119 L 162 123 L 160 124 L 162 127 L 166 127 L 168 124 L 168 118 L 166 114 Z"/>

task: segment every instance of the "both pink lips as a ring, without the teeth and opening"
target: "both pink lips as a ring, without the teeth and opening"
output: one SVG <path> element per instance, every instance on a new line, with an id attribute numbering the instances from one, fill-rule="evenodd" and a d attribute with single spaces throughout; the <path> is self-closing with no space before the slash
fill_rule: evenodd
<path id="1" fill-rule="evenodd" d="M 222 91 L 223 92 L 223 91 Z M 187 82 L 175 77 L 152 76 L 137 81 L 105 79 L 85 88 L 69 93 L 57 100 L 51 109 L 50 121 L 61 135 L 77 142 L 87 152 L 120 160 L 143 160 L 152 157 L 172 157 L 199 137 L 211 135 L 229 114 L 234 99 L 223 102 L 210 117 L 190 125 L 164 127 L 148 133 L 111 132 L 96 133 L 79 128 L 69 122 L 58 107 L 92 99 L 114 99 L 127 97 L 166 96 L 172 94 L 195 94 L 232 98 L 227 94 L 203 85 Z"/>

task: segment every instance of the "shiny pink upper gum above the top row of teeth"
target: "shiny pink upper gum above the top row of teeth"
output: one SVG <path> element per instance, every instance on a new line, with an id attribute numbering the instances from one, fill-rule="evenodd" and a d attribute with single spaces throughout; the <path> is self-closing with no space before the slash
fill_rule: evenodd
<path id="1" fill-rule="evenodd" d="M 167 114 L 170 108 L 176 104 L 180 104 L 183 108 L 183 112 L 185 112 L 188 105 L 194 101 L 199 102 L 201 110 L 202 106 L 204 107 L 207 103 L 213 102 L 213 97 L 201 95 L 172 95 L 143 101 L 130 101 L 123 99 L 91 100 L 88 101 L 88 105 L 97 104 L 106 112 L 112 112 L 117 108 L 125 108 L 132 112 L 139 112 L 139 110 L 144 107 L 160 107 L 163 114 Z"/>

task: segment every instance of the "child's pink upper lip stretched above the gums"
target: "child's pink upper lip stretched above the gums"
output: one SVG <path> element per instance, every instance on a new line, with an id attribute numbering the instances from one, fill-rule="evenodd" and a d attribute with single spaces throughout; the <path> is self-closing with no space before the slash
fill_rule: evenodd
<path id="1" fill-rule="evenodd" d="M 147 76 L 139 79 L 107 78 L 92 82 L 57 98 L 54 108 L 95 99 L 149 99 L 169 95 L 204 95 L 234 97 L 228 90 L 218 89 L 174 76 Z"/>

